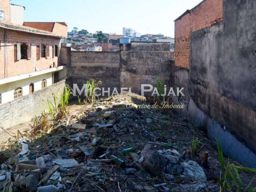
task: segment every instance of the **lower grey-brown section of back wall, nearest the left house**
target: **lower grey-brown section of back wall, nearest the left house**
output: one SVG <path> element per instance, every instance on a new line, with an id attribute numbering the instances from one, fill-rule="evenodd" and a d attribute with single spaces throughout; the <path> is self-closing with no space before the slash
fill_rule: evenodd
<path id="1" fill-rule="evenodd" d="M 71 80 L 81 89 L 87 80 L 102 81 L 102 87 L 120 88 L 119 52 L 71 52 Z M 112 92 L 112 91 L 111 91 Z"/>

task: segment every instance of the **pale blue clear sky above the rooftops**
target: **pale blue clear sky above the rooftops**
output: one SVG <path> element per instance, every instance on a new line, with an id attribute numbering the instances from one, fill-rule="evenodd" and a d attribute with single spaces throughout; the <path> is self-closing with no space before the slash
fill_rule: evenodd
<path id="1" fill-rule="evenodd" d="M 11 0 L 26 7 L 27 22 L 66 22 L 90 33 L 122 34 L 132 28 L 142 34 L 174 37 L 174 20 L 202 0 Z"/>

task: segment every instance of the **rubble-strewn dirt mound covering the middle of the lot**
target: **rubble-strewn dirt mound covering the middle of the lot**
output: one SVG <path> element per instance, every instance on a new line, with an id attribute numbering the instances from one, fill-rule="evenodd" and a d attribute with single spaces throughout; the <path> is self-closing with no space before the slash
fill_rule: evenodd
<path id="1" fill-rule="evenodd" d="M 144 100 L 101 99 L 17 137 L 0 152 L 0 191 L 220 191 L 218 151 L 204 132 L 174 110 L 137 108 Z M 241 176 L 254 185 L 254 174 Z"/>

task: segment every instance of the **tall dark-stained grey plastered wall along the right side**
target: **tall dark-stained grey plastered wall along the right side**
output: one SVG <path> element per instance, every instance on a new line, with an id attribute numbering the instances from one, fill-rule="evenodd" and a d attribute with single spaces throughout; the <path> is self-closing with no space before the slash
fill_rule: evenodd
<path id="1" fill-rule="evenodd" d="M 224 22 L 191 34 L 189 114 L 256 167 L 256 1 L 223 3 Z"/>

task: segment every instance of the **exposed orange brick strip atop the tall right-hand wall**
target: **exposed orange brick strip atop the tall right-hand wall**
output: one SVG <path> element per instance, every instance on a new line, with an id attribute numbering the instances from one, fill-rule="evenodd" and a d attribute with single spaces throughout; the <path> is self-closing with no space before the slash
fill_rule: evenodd
<path id="1" fill-rule="evenodd" d="M 204 0 L 175 22 L 175 65 L 190 68 L 190 33 L 223 20 L 223 0 Z"/>

